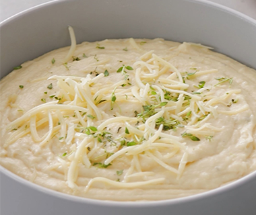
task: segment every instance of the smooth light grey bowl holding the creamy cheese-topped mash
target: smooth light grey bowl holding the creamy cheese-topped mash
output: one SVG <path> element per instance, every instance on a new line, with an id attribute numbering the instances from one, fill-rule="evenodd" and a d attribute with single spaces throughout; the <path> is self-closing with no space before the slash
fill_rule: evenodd
<path id="1" fill-rule="evenodd" d="M 66 0 L 39 5 L 0 24 L 1 77 L 26 60 L 69 45 L 68 25 L 77 42 L 129 37 L 197 42 L 256 69 L 256 21 L 226 7 L 195 0 Z M 0 170 L 1 215 L 253 215 L 256 211 L 256 172 L 177 200 L 103 202 L 58 193 Z"/>

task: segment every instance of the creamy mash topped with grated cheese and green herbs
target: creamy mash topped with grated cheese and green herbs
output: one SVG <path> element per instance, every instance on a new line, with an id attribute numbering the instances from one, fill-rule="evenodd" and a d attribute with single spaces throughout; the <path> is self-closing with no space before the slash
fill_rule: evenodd
<path id="1" fill-rule="evenodd" d="M 1 165 L 98 200 L 166 200 L 256 170 L 256 71 L 200 44 L 83 42 L 1 80 Z"/>

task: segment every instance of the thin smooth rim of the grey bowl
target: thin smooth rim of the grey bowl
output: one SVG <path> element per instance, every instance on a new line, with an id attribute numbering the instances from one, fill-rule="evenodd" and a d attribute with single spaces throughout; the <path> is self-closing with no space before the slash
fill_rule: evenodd
<path id="1" fill-rule="evenodd" d="M 9 22 L 15 22 L 15 19 L 19 19 L 19 17 L 22 17 L 23 15 L 26 15 L 27 13 L 36 11 L 43 7 L 51 6 L 53 4 L 63 3 L 65 1 L 76 1 L 76 0 L 52 0 L 52 1 L 45 2 L 45 3 L 41 3 L 34 7 L 30 7 L 29 9 L 25 9 L 23 11 L 20 11 L 19 13 L 16 13 L 15 15 L 11 15 L 7 19 L 4 19 L 2 22 L 0 22 L 0 29 L 2 26 L 5 26 Z M 249 15 L 245 15 L 244 13 L 241 13 L 239 11 L 236 11 L 235 9 L 226 7 L 224 5 L 220 5 L 218 3 L 214 3 L 212 1 L 207 1 L 207 0 L 183 0 L 183 1 L 189 1 L 191 3 L 202 4 L 207 7 L 214 7 L 221 11 L 225 11 L 226 13 L 230 13 L 231 15 L 239 17 L 239 18 L 243 19 L 245 22 L 249 22 L 250 24 L 252 24 L 253 26 L 256 27 L 256 19 L 253 19 L 252 17 L 249 17 Z M 83 198 L 83 197 L 79 197 L 79 196 L 72 196 L 72 195 L 69 195 L 66 193 L 61 193 L 59 191 L 55 191 L 53 189 L 42 187 L 41 185 L 32 183 L 18 175 L 15 175 L 14 173 L 5 169 L 5 167 L 3 167 L 1 165 L 0 165 L 0 173 L 3 173 L 7 177 L 14 179 L 18 183 L 21 183 L 22 185 L 25 185 L 26 187 L 30 187 L 34 190 L 40 191 L 41 193 L 46 193 L 55 198 L 61 198 L 61 199 L 67 200 L 67 201 L 79 202 L 79 203 L 83 203 L 83 204 L 92 204 L 95 206 L 99 206 L 99 205 L 107 206 L 107 207 L 115 206 L 115 207 L 119 207 L 119 208 L 123 208 L 123 207 L 127 207 L 127 206 L 133 206 L 135 208 L 166 206 L 166 205 L 171 206 L 174 204 L 184 204 L 186 202 L 194 202 L 194 201 L 201 200 L 203 198 L 207 198 L 210 196 L 216 196 L 218 194 L 229 191 L 230 189 L 240 187 L 241 185 L 256 179 L 256 171 L 253 171 L 252 173 L 249 173 L 248 175 L 245 175 L 244 177 L 237 179 L 236 181 L 232 181 L 226 185 L 222 185 L 221 187 L 211 189 L 211 190 L 205 191 L 203 193 L 197 193 L 192 196 L 185 196 L 182 198 L 175 198 L 175 199 L 170 199 L 170 200 L 157 200 L 157 201 L 145 201 L 145 202 L 143 202 L 143 201 L 141 201 L 141 202 L 132 202 L 132 201 L 118 202 L 118 201 L 112 201 L 112 200 L 111 201 L 110 200 L 95 200 L 95 199 Z"/>

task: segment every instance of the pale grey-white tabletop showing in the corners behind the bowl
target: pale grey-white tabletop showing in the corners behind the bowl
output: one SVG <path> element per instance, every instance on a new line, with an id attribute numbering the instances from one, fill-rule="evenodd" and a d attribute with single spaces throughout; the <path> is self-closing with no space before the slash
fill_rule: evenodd
<path id="1" fill-rule="evenodd" d="M 34 7 L 36 5 L 46 3 L 50 0 L 0 0 L 0 22 L 15 13 L 19 13 L 28 9 L 30 7 Z M 256 0 L 210 0 L 215 3 L 219 3 L 226 7 L 230 7 L 235 9 L 236 11 L 240 11 L 253 19 L 256 19 Z"/>

